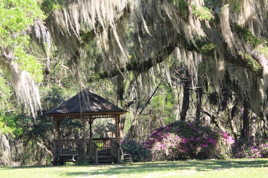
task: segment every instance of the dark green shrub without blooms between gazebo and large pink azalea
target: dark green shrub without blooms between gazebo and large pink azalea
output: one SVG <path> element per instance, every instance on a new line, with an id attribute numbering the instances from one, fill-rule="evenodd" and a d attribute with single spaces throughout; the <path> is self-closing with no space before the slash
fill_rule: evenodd
<path id="1" fill-rule="evenodd" d="M 131 155 L 133 162 L 151 161 L 151 151 L 143 146 L 142 142 L 136 140 L 124 140 L 121 142 L 124 153 Z"/>

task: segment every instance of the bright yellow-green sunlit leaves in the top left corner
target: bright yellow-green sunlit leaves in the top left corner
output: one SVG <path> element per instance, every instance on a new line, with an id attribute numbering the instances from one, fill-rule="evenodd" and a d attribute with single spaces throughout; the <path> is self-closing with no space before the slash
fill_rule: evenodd
<path id="1" fill-rule="evenodd" d="M 37 1 L 3 0 L 0 1 L 0 46 L 9 55 L 17 58 L 14 62 L 21 70 L 28 71 L 36 80 L 41 81 L 41 65 L 36 58 L 26 52 L 30 37 L 27 34 L 36 18 L 43 19 Z"/>

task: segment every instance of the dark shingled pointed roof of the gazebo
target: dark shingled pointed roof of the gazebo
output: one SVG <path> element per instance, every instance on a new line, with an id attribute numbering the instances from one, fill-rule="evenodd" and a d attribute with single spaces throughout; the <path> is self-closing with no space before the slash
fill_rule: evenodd
<path id="1" fill-rule="evenodd" d="M 90 90 L 84 90 L 58 107 L 46 112 L 47 116 L 124 114 L 127 111 L 110 103 Z"/>

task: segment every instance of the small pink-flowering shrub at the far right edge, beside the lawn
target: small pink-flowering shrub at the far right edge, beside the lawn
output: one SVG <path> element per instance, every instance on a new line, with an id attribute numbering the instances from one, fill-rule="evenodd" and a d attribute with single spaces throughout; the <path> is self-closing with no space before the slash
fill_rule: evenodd
<path id="1" fill-rule="evenodd" d="M 240 139 L 235 145 L 235 158 L 268 158 L 268 140 L 258 140 L 256 143 Z"/>

